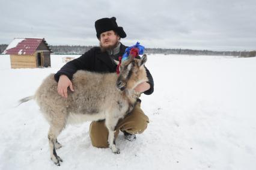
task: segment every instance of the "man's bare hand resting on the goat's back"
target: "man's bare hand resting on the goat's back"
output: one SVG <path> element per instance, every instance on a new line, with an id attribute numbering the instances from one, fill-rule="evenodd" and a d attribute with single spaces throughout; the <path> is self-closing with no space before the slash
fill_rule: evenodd
<path id="1" fill-rule="evenodd" d="M 67 98 L 67 88 L 70 88 L 71 91 L 74 91 L 72 82 L 70 81 L 69 77 L 62 74 L 59 76 L 59 82 L 58 82 L 58 94 L 62 97 Z"/>

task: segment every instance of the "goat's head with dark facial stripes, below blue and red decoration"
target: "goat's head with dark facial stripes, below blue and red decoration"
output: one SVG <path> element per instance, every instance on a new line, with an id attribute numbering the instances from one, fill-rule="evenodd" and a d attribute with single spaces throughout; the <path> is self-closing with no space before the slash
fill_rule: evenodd
<path id="1" fill-rule="evenodd" d="M 144 67 L 147 55 L 141 59 L 133 58 L 129 55 L 127 60 L 121 62 L 120 74 L 116 86 L 119 90 L 133 90 L 139 83 L 147 82 L 147 73 Z"/>

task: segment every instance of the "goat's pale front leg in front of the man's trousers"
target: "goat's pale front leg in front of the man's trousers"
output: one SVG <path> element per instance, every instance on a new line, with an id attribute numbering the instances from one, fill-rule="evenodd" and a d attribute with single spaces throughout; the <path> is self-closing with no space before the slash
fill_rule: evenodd
<path id="1" fill-rule="evenodd" d="M 118 118 L 106 117 L 106 127 L 108 129 L 108 144 L 112 152 L 120 154 L 120 149 L 115 146 L 115 126 L 117 126 Z"/>

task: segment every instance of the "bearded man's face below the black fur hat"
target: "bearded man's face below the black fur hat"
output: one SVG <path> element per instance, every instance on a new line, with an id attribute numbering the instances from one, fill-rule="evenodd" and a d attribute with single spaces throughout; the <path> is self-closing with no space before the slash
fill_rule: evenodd
<path id="1" fill-rule="evenodd" d="M 104 49 L 113 49 L 117 46 L 119 35 L 115 34 L 114 31 L 106 31 L 100 34 L 100 46 Z"/>

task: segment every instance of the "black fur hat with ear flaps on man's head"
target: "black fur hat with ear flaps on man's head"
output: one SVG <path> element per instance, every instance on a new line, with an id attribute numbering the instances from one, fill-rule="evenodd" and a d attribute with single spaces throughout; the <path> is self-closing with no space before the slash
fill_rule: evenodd
<path id="1" fill-rule="evenodd" d="M 102 32 L 111 31 L 111 30 L 117 32 L 117 34 L 121 38 L 126 37 L 126 32 L 124 32 L 123 27 L 118 26 L 115 20 L 116 20 L 115 17 L 111 17 L 111 18 L 105 17 L 105 18 L 96 20 L 95 29 L 97 32 L 98 39 L 100 38 L 100 34 L 102 34 Z"/>

